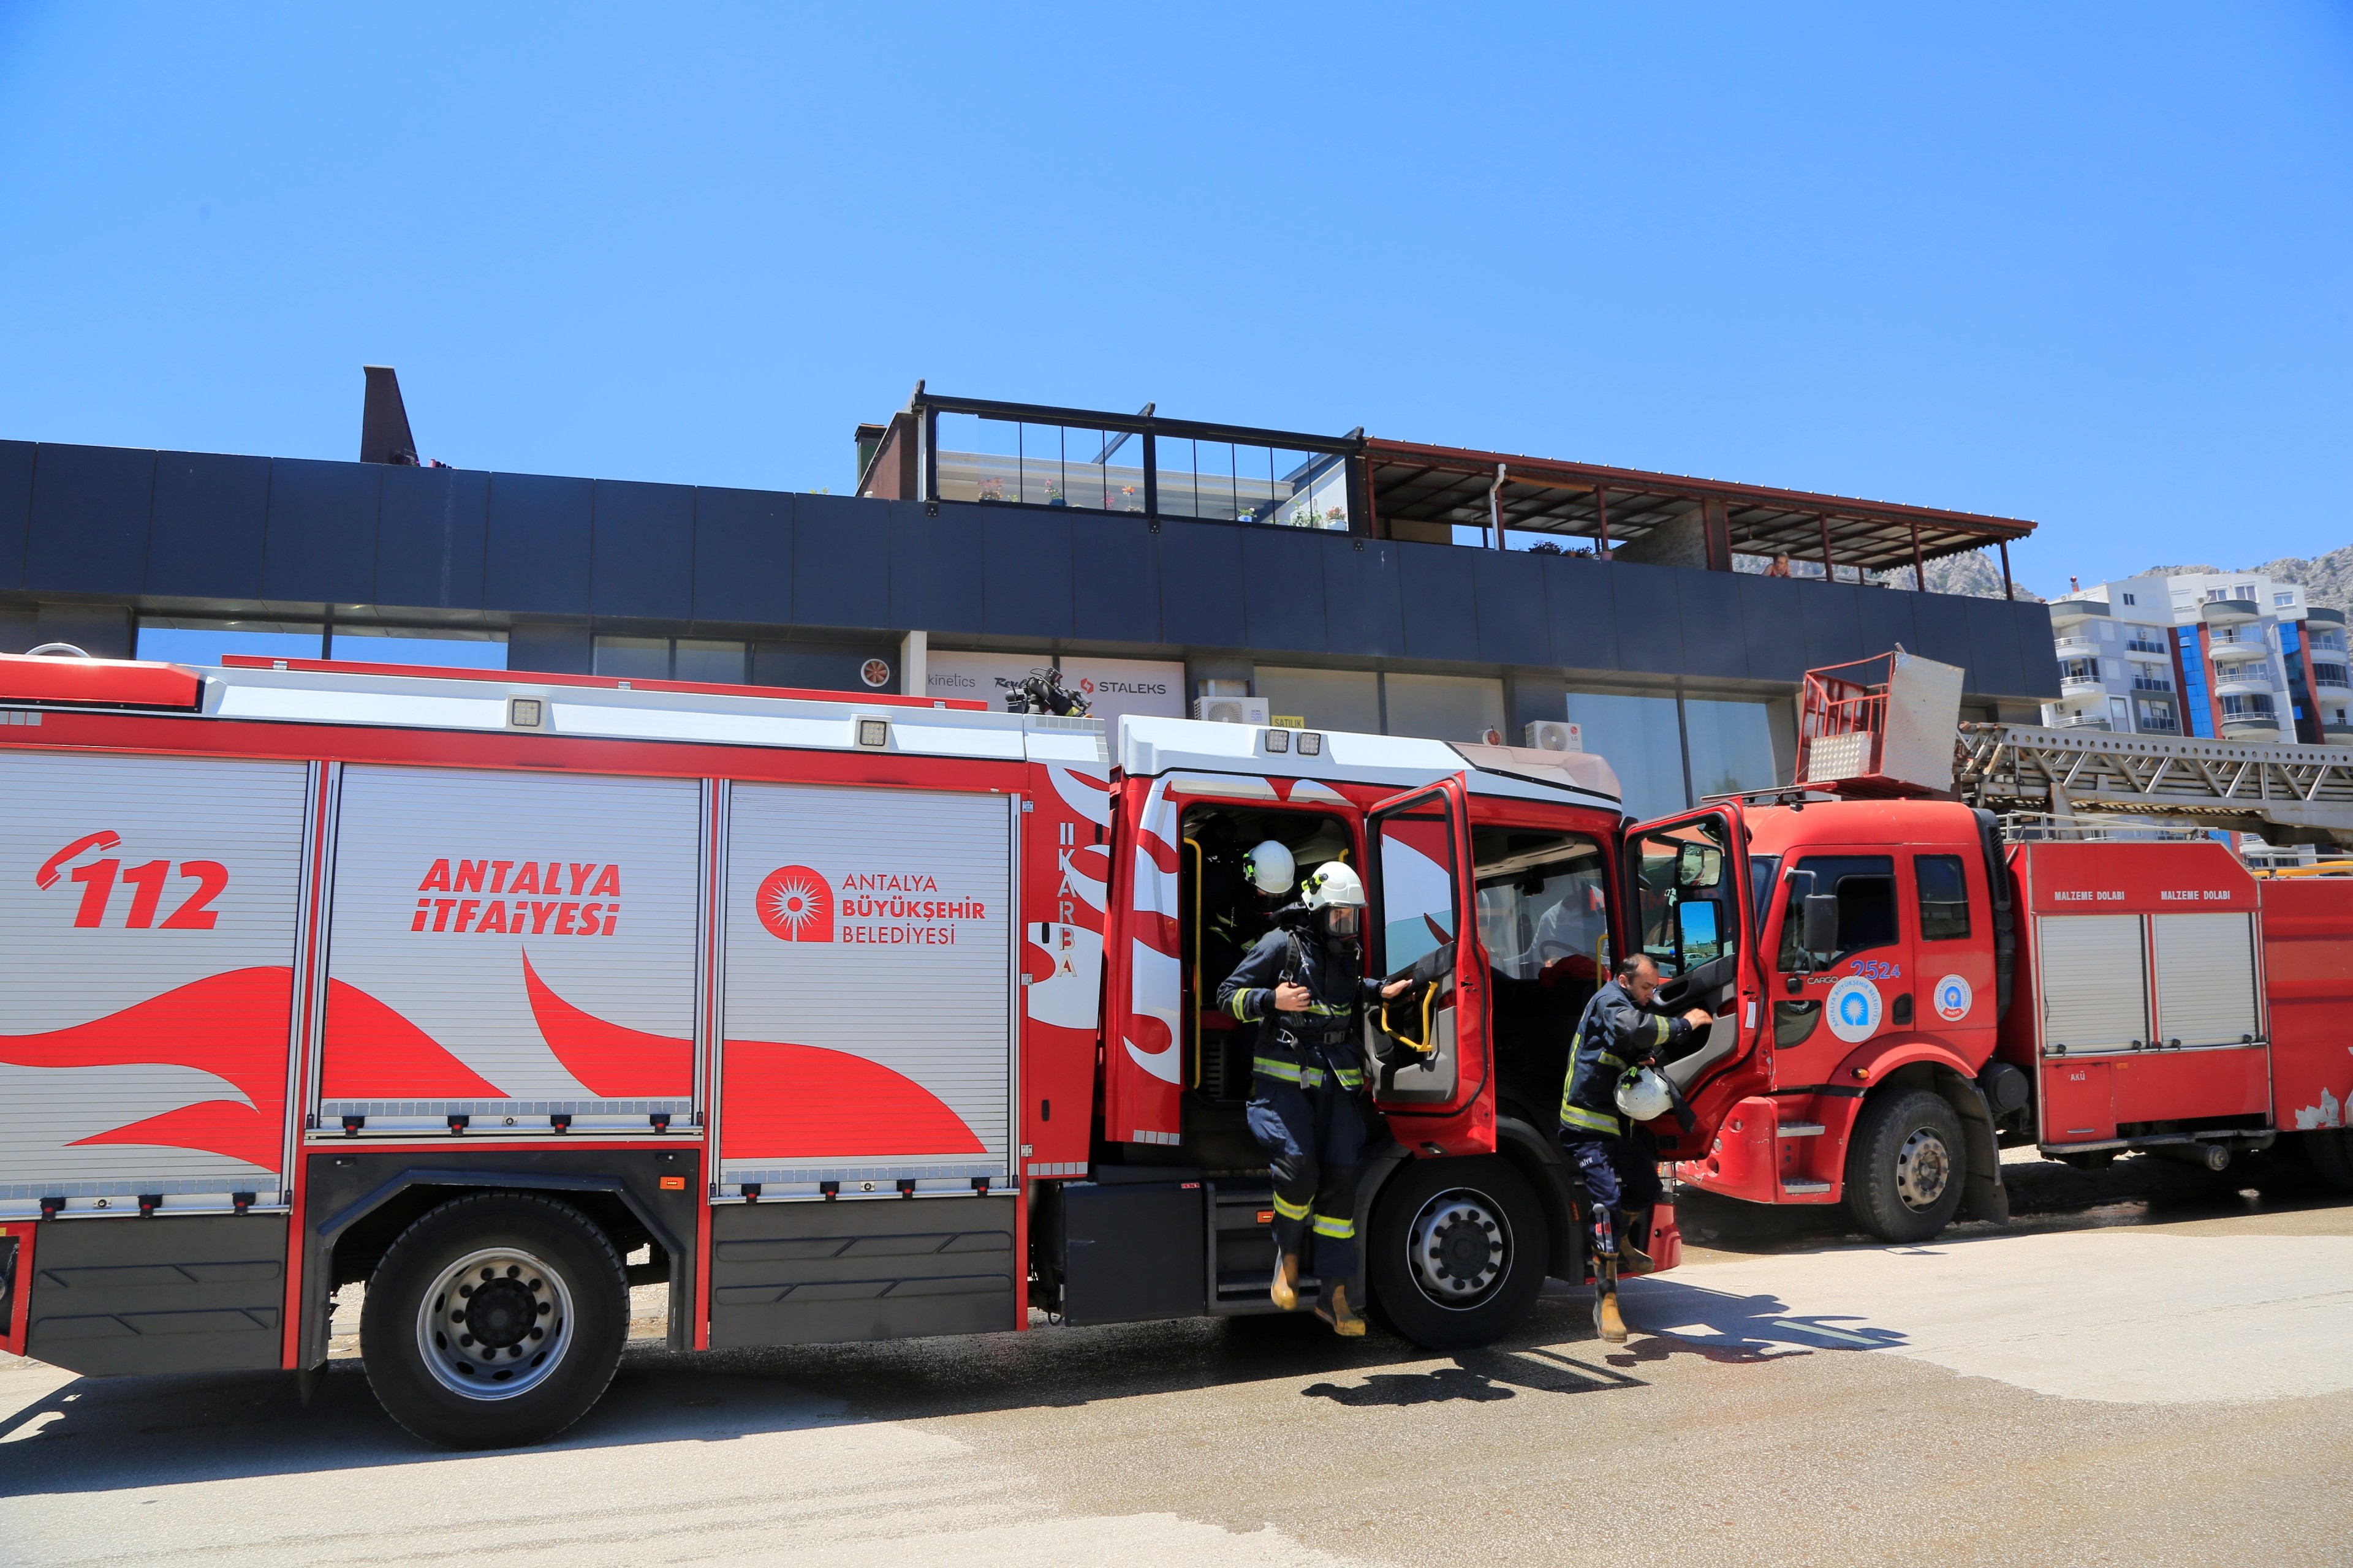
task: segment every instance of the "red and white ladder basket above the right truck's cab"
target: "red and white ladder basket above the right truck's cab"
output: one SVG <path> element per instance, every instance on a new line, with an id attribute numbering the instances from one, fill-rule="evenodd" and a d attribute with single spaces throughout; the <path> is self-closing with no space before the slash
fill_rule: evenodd
<path id="1" fill-rule="evenodd" d="M 1840 795 L 1951 795 L 1960 668 L 1892 654 L 1805 672 L 1798 783 Z"/>

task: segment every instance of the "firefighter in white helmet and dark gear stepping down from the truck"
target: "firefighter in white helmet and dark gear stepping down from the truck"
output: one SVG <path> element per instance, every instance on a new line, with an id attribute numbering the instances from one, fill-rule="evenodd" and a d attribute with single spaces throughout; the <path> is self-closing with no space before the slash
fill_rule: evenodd
<path id="1" fill-rule="evenodd" d="M 1217 1004 L 1261 1023 L 1249 1067 L 1249 1135 L 1266 1150 L 1275 1178 L 1275 1307 L 1299 1307 L 1299 1255 L 1315 1239 L 1315 1316 L 1334 1333 L 1365 1333 L 1348 1300 L 1355 1279 L 1355 1161 L 1365 1117 L 1355 1095 L 1365 1065 L 1355 1048 L 1355 1009 L 1395 997 L 1412 980 L 1365 980 L 1365 884 L 1332 860 L 1301 884 L 1301 900 L 1259 938 L 1249 957 L 1217 987 Z"/>

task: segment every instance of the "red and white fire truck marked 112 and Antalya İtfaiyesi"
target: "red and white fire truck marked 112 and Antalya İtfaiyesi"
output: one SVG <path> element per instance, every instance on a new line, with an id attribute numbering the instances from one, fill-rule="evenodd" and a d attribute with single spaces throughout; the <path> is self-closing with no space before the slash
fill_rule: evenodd
<path id="1" fill-rule="evenodd" d="M 1600 757 L 9 656 L 0 799 L 0 1347 L 311 1375 L 358 1319 L 454 1446 L 588 1410 L 631 1286 L 673 1349 L 1271 1309 L 1238 844 L 1362 867 L 1372 971 L 1438 976 L 1365 1020 L 1351 1295 L 1421 1345 L 1588 1274 L 1553 1121 L 1628 900 L 1729 1020 L 1661 1152 L 1777 1081 L 1741 809 L 1628 835 Z"/>

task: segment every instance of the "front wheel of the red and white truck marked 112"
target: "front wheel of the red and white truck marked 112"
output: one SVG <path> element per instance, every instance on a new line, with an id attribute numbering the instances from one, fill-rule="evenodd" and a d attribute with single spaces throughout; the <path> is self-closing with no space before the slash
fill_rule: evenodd
<path id="1" fill-rule="evenodd" d="M 1426 1349 L 1492 1345 L 1544 1288 L 1544 1204 L 1508 1159 L 1417 1159 L 1372 1204 L 1374 1314 Z"/>

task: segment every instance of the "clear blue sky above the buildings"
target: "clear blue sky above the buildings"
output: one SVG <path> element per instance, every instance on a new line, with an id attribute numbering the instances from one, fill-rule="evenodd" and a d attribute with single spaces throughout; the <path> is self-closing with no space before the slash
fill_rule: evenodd
<path id="1" fill-rule="evenodd" d="M 0 0 L 0 437 L 845 489 L 934 390 L 2353 543 L 2353 9 Z"/>

